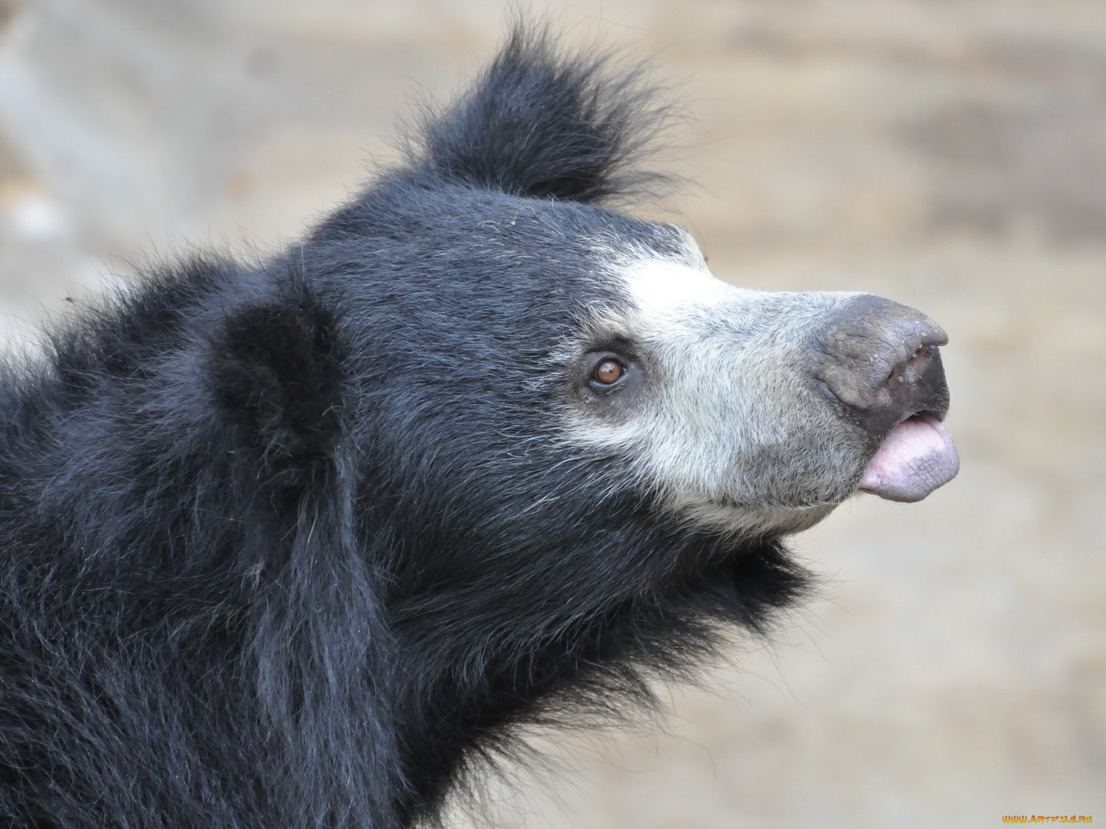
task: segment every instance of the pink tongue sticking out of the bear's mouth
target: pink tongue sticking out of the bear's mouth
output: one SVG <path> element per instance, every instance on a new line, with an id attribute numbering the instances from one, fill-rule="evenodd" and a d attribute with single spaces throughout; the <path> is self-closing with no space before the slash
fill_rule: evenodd
<path id="1" fill-rule="evenodd" d="M 959 471 L 960 457 L 945 427 L 930 414 L 915 414 L 884 440 L 860 489 L 888 501 L 921 501 Z"/>

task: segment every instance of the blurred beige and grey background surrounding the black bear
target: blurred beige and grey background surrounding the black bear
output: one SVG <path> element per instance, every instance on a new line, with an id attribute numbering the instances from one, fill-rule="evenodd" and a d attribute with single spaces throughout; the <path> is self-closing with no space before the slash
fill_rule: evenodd
<path id="1" fill-rule="evenodd" d="M 962 470 L 800 536 L 815 601 L 667 693 L 664 731 L 546 739 L 559 764 L 492 789 L 499 825 L 1106 820 L 1106 3 L 539 8 L 682 84 L 669 168 L 698 185 L 639 216 L 735 284 L 870 291 L 949 332 Z M 397 115 L 479 71 L 503 11 L 0 0 L 8 347 L 145 258 L 294 240 Z"/>

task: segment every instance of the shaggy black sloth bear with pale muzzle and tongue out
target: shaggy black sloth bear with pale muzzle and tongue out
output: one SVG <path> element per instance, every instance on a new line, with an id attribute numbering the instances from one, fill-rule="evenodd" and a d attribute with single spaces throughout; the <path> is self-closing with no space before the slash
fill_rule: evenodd
<path id="1" fill-rule="evenodd" d="M 604 202 L 664 113 L 520 27 L 300 244 L 196 256 L 0 385 L 0 817 L 398 829 L 648 701 L 949 480 L 941 329 L 713 279 Z"/>

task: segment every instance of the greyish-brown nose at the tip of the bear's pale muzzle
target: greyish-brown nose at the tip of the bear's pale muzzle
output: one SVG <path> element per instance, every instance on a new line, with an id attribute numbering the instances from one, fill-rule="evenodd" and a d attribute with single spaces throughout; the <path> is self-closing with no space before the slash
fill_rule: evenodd
<path id="1" fill-rule="evenodd" d="M 823 329 L 816 377 L 853 420 L 883 438 L 911 414 L 945 417 L 949 388 L 938 346 L 948 339 L 921 312 L 865 294 Z"/>

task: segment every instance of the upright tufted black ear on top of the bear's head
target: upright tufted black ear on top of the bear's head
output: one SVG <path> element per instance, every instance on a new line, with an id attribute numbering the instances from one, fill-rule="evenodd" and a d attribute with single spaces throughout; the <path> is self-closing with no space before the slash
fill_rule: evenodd
<path id="1" fill-rule="evenodd" d="M 570 201 L 656 195 L 669 177 L 637 167 L 672 120 L 648 66 L 564 55 L 547 25 L 515 22 L 474 86 L 411 136 L 419 171 L 473 187 Z"/>

